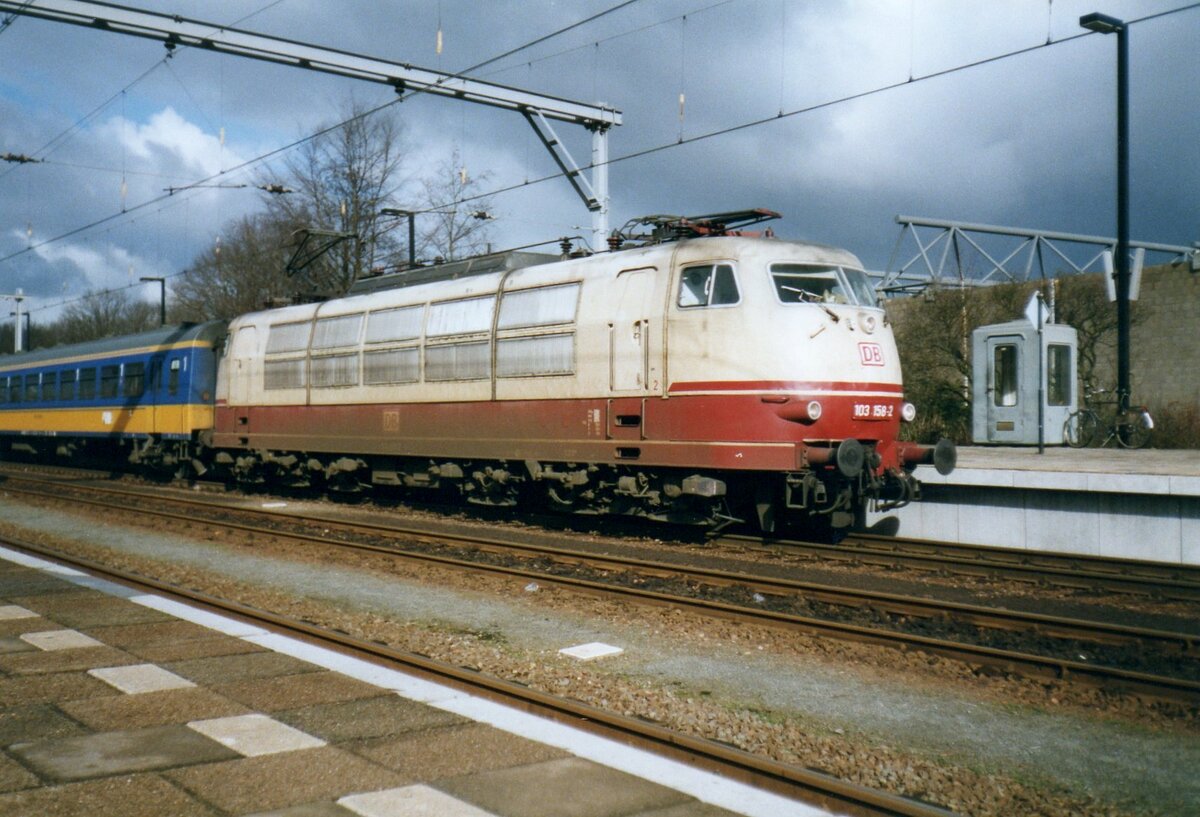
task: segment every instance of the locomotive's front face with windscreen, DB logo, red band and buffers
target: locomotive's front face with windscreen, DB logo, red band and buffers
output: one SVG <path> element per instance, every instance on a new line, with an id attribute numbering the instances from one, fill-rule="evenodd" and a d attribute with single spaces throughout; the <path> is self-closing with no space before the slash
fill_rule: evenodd
<path id="1" fill-rule="evenodd" d="M 782 507 L 810 528 L 860 528 L 869 507 L 887 511 L 919 497 L 918 464 L 953 470 L 954 445 L 899 440 L 917 409 L 904 400 L 895 337 L 857 259 L 775 262 L 769 272 L 778 314 L 794 316 L 781 318 L 797 343 L 784 365 L 804 385 L 775 398 L 775 414 L 799 426 L 803 443 L 800 467 L 784 479 Z"/>

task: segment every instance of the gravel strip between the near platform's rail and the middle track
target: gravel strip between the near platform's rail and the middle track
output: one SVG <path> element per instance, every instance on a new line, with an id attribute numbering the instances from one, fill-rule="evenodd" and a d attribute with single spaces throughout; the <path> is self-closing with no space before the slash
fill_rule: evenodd
<path id="1" fill-rule="evenodd" d="M 660 721 L 964 815 L 1193 815 L 1195 713 L 326 548 L 0 497 L 0 533 Z M 565 647 L 624 653 L 580 662 Z"/>

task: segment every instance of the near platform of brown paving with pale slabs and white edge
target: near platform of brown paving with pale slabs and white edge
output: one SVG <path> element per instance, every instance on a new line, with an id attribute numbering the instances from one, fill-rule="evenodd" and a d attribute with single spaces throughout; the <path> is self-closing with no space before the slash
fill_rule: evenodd
<path id="1" fill-rule="evenodd" d="M 6 817 L 734 813 L 826 812 L 0 548 Z"/>

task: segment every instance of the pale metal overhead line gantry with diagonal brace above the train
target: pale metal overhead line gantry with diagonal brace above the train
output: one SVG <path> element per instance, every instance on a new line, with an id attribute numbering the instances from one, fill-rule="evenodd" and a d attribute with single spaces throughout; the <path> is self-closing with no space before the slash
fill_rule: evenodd
<path id="1" fill-rule="evenodd" d="M 572 102 L 462 74 L 421 68 L 295 40 L 271 37 L 216 23 L 161 14 L 94 0 L 0 0 L 0 12 L 68 23 L 88 29 L 157 40 L 168 49 L 202 48 L 264 62 L 319 71 L 380 83 L 396 89 L 432 94 L 521 113 L 553 156 L 568 181 L 592 212 L 592 246 L 602 250 L 608 236 L 608 131 L 622 124 L 620 112 L 605 104 Z M 551 120 L 580 125 L 592 132 L 592 179 L 575 162 L 554 133 Z"/>

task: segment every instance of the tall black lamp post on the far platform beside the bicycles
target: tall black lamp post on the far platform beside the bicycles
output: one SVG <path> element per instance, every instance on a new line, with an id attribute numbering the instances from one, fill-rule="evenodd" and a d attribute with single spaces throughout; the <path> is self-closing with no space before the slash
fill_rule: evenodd
<path id="1" fill-rule="evenodd" d="M 1088 31 L 1117 35 L 1117 400 L 1129 408 L 1129 26 L 1094 12 L 1079 18 Z"/>

